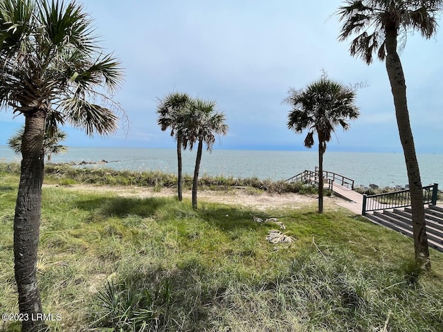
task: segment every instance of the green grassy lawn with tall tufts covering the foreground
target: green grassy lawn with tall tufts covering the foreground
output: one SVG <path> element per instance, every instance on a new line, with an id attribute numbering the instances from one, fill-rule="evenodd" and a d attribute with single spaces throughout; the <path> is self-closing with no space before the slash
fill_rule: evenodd
<path id="1" fill-rule="evenodd" d="M 0 173 L 2 313 L 18 312 L 17 182 Z M 433 269 L 417 279 L 410 239 L 347 210 L 43 194 L 39 288 L 45 313 L 62 315 L 51 331 L 443 330 L 442 254 L 431 250 Z M 296 241 L 268 243 L 275 225 L 251 214 L 277 216 Z"/>

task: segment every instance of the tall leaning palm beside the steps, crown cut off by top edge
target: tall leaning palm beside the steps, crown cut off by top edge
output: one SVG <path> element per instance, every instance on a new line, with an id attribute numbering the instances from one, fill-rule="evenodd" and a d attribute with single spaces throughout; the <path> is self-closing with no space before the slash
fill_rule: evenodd
<path id="1" fill-rule="evenodd" d="M 350 45 L 351 55 L 361 57 L 366 64 L 372 62 L 373 55 L 386 62 L 408 171 L 415 261 L 425 270 L 431 268 L 431 261 L 424 223 L 422 180 L 410 129 L 406 82 L 397 53 L 397 40 L 413 30 L 419 31 L 426 39 L 431 38 L 437 28 L 435 17 L 442 4 L 442 0 L 363 0 L 345 1 L 345 6 L 338 9 L 340 21 L 343 22 L 339 39 L 344 41 L 356 35 Z"/>

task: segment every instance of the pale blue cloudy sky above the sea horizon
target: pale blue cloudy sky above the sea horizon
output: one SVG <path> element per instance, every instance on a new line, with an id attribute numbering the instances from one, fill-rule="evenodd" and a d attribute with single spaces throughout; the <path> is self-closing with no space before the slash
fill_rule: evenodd
<path id="1" fill-rule="evenodd" d="M 361 116 L 349 131 L 336 131 L 330 151 L 401 152 L 386 68 L 350 56 L 339 43 L 334 12 L 342 1 L 280 0 L 84 0 L 102 37 L 125 67 L 125 83 L 114 95 L 130 129 L 89 138 L 65 128 L 66 145 L 174 147 L 156 124 L 156 98 L 172 91 L 217 100 L 226 113 L 228 136 L 215 149 L 305 149 L 305 134 L 287 129 L 290 87 L 318 79 L 366 82 L 357 91 Z M 443 153 L 443 33 L 426 40 L 408 35 L 401 61 L 406 75 L 410 121 L 420 153 Z M 0 145 L 24 122 L 0 112 Z"/>

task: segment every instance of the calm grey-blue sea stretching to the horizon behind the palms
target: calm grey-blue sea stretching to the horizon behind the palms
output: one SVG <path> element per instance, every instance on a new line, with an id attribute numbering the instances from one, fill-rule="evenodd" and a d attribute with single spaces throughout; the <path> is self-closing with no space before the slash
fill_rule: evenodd
<path id="1" fill-rule="evenodd" d="M 439 183 L 443 187 L 443 155 L 419 154 L 422 183 Z M 159 170 L 177 172 L 175 149 L 119 149 L 105 147 L 70 147 L 66 154 L 53 156 L 53 163 L 69 161 L 107 160 L 109 167 L 134 171 Z M 204 151 L 200 174 L 208 176 L 233 176 L 245 178 L 271 178 L 284 180 L 305 169 L 314 170 L 318 165 L 318 154 L 313 151 Z M 8 147 L 0 147 L 0 161 L 19 162 L 19 156 Z M 355 180 L 356 185 L 376 183 L 380 186 L 406 185 L 408 178 L 402 154 L 379 154 L 360 152 L 327 151 L 324 169 Z M 193 174 L 195 151 L 183 151 L 183 172 Z"/>

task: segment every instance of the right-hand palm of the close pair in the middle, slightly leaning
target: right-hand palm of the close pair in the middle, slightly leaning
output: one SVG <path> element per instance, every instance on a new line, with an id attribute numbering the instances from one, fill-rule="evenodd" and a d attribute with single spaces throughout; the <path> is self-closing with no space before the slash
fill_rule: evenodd
<path id="1" fill-rule="evenodd" d="M 198 142 L 194 178 L 192 180 L 192 208 L 194 209 L 197 209 L 197 185 L 203 143 L 206 143 L 208 151 L 212 151 L 215 136 L 228 133 L 228 124 L 225 123 L 226 116 L 216 109 L 217 103 L 214 100 L 197 98 L 190 103 L 189 113 L 183 123 L 183 131 L 185 131 L 183 145 L 185 147 L 189 145 L 192 150 L 194 144 Z"/>

